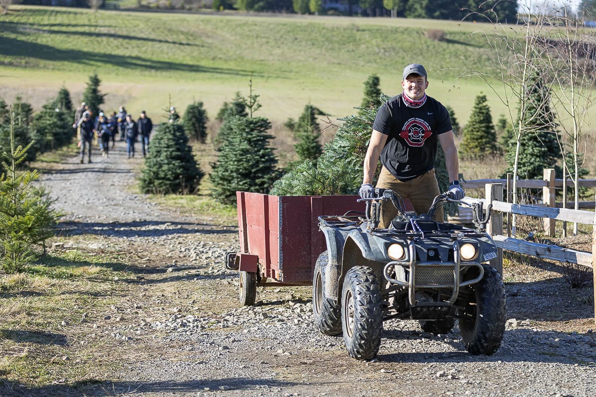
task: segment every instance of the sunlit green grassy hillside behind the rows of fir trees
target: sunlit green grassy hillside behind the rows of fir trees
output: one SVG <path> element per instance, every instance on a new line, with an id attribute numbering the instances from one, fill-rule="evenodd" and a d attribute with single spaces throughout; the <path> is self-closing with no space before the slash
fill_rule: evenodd
<path id="1" fill-rule="evenodd" d="M 107 108 L 124 104 L 155 115 L 169 98 L 181 108 L 197 99 L 213 115 L 237 90 L 246 95 L 253 73 L 260 114 L 274 121 L 297 117 L 309 101 L 343 117 L 359 105 L 370 74 L 395 95 L 403 65 L 415 61 L 431 74 L 430 95 L 465 121 L 474 96 L 488 87 L 457 80 L 458 68 L 491 73 L 485 39 L 472 34 L 479 27 L 492 29 L 390 18 L 13 7 L 0 15 L 0 97 L 21 95 L 39 107 L 64 84 L 78 101 L 97 70 Z M 446 39 L 427 39 L 429 29 L 444 30 Z M 495 98 L 491 105 L 495 114 L 503 111 Z"/>

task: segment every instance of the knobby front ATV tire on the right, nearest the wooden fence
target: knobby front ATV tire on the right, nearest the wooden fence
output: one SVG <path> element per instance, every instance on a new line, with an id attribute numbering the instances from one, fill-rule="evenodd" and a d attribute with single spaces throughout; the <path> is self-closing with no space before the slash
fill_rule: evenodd
<path id="1" fill-rule="evenodd" d="M 482 266 L 482 280 L 467 287 L 473 299 L 461 311 L 460 331 L 468 352 L 491 355 L 501 346 L 505 332 L 505 287 L 495 268 Z"/>

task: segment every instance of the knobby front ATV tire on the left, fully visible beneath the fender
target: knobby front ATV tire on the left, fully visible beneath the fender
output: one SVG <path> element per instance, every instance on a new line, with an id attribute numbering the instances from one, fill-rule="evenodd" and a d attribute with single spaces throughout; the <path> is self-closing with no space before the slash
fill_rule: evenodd
<path id="1" fill-rule="evenodd" d="M 342 330 L 348 354 L 356 360 L 375 357 L 383 332 L 381 285 L 373 269 L 351 268 L 342 289 Z"/>

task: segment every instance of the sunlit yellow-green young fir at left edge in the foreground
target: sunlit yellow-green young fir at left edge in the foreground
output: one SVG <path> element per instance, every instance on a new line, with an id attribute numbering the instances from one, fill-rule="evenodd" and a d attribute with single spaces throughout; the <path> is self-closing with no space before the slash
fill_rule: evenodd
<path id="1" fill-rule="evenodd" d="M 0 177 L 0 267 L 4 273 L 20 271 L 33 261 L 37 257 L 35 246 L 45 248 L 58 219 L 48 193 L 34 185 L 38 171 L 18 172 L 31 143 L 15 145 L 14 121 L 10 127 L 10 145 L 2 153 L 4 173 Z"/>

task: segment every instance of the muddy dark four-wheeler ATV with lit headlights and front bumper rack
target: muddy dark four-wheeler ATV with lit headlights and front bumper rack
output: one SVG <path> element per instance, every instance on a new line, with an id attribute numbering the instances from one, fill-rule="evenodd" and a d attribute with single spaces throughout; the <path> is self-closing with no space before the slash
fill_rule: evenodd
<path id="1" fill-rule="evenodd" d="M 471 354 L 491 355 L 505 330 L 505 290 L 487 262 L 497 248 L 485 232 L 491 208 L 474 204 L 476 229 L 432 220 L 434 209 L 452 201 L 437 196 L 427 214 L 403 210 L 399 196 L 377 190 L 362 215 L 321 216 L 327 250 L 313 272 L 313 314 L 326 335 L 343 333 L 350 356 L 373 358 L 383 321 L 419 320 L 422 329 L 448 333 L 459 320 Z M 380 205 L 399 212 L 378 227 Z"/>

